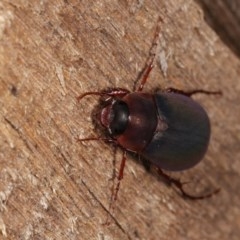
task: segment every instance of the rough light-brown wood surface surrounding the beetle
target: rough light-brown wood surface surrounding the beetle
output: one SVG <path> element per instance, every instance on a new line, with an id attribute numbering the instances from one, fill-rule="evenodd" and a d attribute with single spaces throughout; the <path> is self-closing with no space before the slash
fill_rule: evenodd
<path id="1" fill-rule="evenodd" d="M 204 160 L 172 176 L 186 189 L 221 192 L 184 200 L 128 157 L 109 226 L 114 160 L 121 152 L 95 134 L 97 98 L 106 87 L 131 89 L 164 19 L 155 87 L 221 89 L 195 96 L 212 137 Z M 185 0 L 0 2 L 0 239 L 210 239 L 240 236 L 240 62 Z"/>

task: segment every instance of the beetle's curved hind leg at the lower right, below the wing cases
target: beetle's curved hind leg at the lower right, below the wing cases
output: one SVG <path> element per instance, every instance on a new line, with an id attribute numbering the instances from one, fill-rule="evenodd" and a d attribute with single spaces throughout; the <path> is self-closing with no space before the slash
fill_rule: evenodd
<path id="1" fill-rule="evenodd" d="M 191 195 L 189 193 L 187 193 L 184 189 L 183 189 L 183 185 L 186 184 L 187 182 L 183 183 L 178 179 L 175 179 L 169 175 L 167 175 L 166 173 L 164 173 L 160 168 L 157 168 L 157 173 L 162 176 L 164 179 L 166 179 L 169 183 L 173 184 L 175 187 L 177 187 L 179 189 L 179 191 L 181 192 L 182 196 L 184 198 L 187 199 L 191 199 L 191 200 L 200 200 L 200 199 L 205 199 L 205 198 L 210 198 L 213 195 L 217 194 L 220 191 L 220 188 L 207 193 L 205 195 L 201 195 L 201 196 L 195 196 L 195 195 Z"/>

